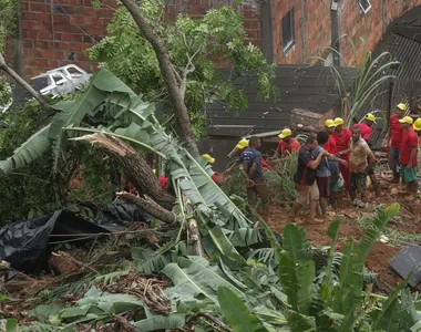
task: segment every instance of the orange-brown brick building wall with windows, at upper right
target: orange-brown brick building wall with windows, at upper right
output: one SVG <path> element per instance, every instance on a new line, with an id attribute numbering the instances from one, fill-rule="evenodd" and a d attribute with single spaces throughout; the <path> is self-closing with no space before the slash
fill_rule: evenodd
<path id="1" fill-rule="evenodd" d="M 331 0 L 273 0 L 274 59 L 277 63 L 315 63 L 318 56 L 328 54 L 327 48 L 331 44 L 330 3 Z M 358 64 L 363 60 L 360 37 L 364 39 L 367 50 L 373 50 L 393 18 L 420 4 L 421 0 L 371 0 L 371 10 L 364 14 L 358 0 L 338 0 L 339 35 L 348 34 L 356 46 L 355 50 L 348 38 L 340 39 L 340 51 L 348 63 L 353 64 L 356 54 Z M 281 19 L 292 8 L 296 42 L 285 54 Z"/>

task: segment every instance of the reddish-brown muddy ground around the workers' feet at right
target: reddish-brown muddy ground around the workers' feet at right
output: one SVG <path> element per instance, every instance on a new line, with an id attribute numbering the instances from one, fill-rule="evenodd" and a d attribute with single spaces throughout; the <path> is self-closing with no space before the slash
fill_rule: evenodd
<path id="1" fill-rule="evenodd" d="M 421 235 L 421 200 L 411 199 L 403 195 L 400 185 L 390 184 L 387 180 L 382 180 L 381 184 L 383 188 L 382 195 L 376 197 L 373 193 L 370 193 L 367 200 L 369 204 L 364 208 L 353 207 L 348 198 L 343 199 L 343 207 L 341 209 L 329 207 L 329 221 L 336 218 L 342 221 L 336 248 L 338 251 L 343 249 L 346 240 L 361 239 L 364 220 L 369 220 L 377 209 L 384 208 L 392 203 L 399 203 L 401 208 L 398 217 L 389 222 L 388 231 L 392 234 L 394 231 L 404 232 L 404 237 Z M 308 208 L 302 208 L 298 224 L 305 228 L 311 245 L 315 247 L 329 246 L 331 239 L 326 235 L 329 222 L 308 224 L 306 221 L 307 218 Z M 284 227 L 288 222 L 291 222 L 291 220 L 290 206 L 273 206 L 270 216 L 267 218 L 270 228 L 280 235 L 284 231 Z M 378 241 L 374 245 L 367 259 L 366 267 L 379 274 L 378 290 L 389 293 L 402 279 L 389 268 L 388 260 L 410 240 L 393 237 L 393 239 L 383 238 L 383 241 Z"/>

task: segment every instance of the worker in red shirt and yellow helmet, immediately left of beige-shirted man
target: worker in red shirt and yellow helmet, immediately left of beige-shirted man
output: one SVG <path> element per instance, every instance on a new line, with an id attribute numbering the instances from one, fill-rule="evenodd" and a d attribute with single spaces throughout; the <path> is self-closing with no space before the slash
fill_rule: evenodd
<path id="1" fill-rule="evenodd" d="M 336 146 L 338 149 L 338 157 L 342 158 L 349 164 L 349 145 L 351 143 L 352 134 L 350 129 L 343 127 L 343 118 L 341 117 L 335 118 L 335 132 L 332 133 L 332 137 L 336 142 Z M 347 190 L 349 191 L 350 189 L 349 166 L 346 166 L 345 164 L 340 164 L 339 168 L 345 180 L 345 186 Z"/>

